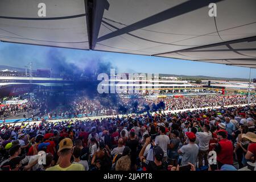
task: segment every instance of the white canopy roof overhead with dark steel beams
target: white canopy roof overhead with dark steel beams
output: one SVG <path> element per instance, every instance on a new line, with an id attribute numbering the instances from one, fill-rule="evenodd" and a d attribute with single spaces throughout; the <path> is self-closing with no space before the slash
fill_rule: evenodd
<path id="1" fill-rule="evenodd" d="M 256 68 L 255 0 L 40 2 L 0 1 L 0 40 Z"/>

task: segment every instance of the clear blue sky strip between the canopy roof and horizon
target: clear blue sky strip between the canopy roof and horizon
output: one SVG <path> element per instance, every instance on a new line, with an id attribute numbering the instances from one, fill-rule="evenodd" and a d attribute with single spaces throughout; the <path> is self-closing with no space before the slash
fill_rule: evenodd
<path id="1" fill-rule="evenodd" d="M 24 68 L 25 65 L 32 61 L 34 68 L 46 69 L 44 62 L 49 51 L 54 51 L 56 55 L 63 57 L 68 63 L 77 65 L 94 59 L 108 61 L 113 67 L 118 69 L 118 72 L 249 78 L 249 68 L 232 67 L 222 64 L 3 42 L 0 42 L 0 65 Z M 255 69 L 251 69 L 251 78 L 256 78 Z"/>

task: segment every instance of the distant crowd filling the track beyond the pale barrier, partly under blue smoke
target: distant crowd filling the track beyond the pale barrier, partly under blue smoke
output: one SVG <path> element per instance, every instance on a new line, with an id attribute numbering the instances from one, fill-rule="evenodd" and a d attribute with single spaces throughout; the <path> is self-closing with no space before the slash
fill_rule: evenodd
<path id="1" fill-rule="evenodd" d="M 105 101 L 104 101 L 105 100 Z M 167 97 L 167 98 L 145 98 L 138 97 L 135 99 L 120 98 L 122 105 L 130 106 L 125 108 L 126 113 L 139 113 L 143 110 L 144 105 L 152 108 L 152 105 L 159 104 L 163 101 L 165 104 L 164 110 L 180 110 L 192 109 L 202 107 L 228 106 L 247 104 L 247 96 L 195 96 L 195 97 Z M 251 97 L 251 103 L 255 103 L 256 97 Z M 22 113 L 23 118 L 32 118 L 33 121 L 38 121 L 42 117 L 47 119 L 56 118 L 71 118 L 78 115 L 95 116 L 95 115 L 117 115 L 126 114 L 119 109 L 119 105 L 111 105 L 109 98 L 93 98 L 78 97 L 68 102 L 68 107 L 57 107 L 52 110 L 49 109 L 46 100 L 31 100 L 26 104 L 20 105 L 2 105 L 0 106 L 0 118 L 16 117 Z M 119 101 L 118 101 L 119 102 Z M 134 103 L 137 102 L 137 105 Z M 134 105 L 134 106 L 133 106 Z M 135 108 L 136 107 L 136 108 Z M 155 110 L 151 110 L 155 111 Z"/>

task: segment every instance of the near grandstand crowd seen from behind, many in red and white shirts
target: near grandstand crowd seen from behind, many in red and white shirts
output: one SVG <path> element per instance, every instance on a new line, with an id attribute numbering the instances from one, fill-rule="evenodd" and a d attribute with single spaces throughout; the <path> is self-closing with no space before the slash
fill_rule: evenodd
<path id="1" fill-rule="evenodd" d="M 256 105 L 250 105 L 15 126 L 1 123 L 0 169 L 236 171 L 255 162 L 255 119 Z M 42 151 L 46 156 L 41 164 Z M 216 152 L 216 163 L 209 163 L 210 151 Z"/>

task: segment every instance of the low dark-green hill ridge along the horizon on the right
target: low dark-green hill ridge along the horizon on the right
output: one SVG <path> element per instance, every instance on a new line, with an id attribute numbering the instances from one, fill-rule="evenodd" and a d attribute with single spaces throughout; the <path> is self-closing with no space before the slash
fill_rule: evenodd
<path id="1" fill-rule="evenodd" d="M 159 74 L 160 77 L 179 77 L 182 80 L 226 80 L 226 81 L 249 81 L 246 78 L 224 78 L 224 77 L 212 77 L 212 76 L 189 76 L 189 75 L 171 75 L 171 74 Z M 251 79 L 252 81 L 253 79 Z"/>

